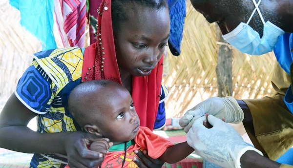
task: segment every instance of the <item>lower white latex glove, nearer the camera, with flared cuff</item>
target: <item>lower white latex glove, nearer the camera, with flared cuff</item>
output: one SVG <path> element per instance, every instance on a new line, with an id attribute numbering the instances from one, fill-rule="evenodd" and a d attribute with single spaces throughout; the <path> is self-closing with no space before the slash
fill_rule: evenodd
<path id="1" fill-rule="evenodd" d="M 206 116 L 196 120 L 187 133 L 187 143 L 195 153 L 211 163 L 223 168 L 240 168 L 240 157 L 247 150 L 263 154 L 243 141 L 241 135 L 229 124 L 209 115 L 212 128 L 206 128 L 203 122 Z"/>

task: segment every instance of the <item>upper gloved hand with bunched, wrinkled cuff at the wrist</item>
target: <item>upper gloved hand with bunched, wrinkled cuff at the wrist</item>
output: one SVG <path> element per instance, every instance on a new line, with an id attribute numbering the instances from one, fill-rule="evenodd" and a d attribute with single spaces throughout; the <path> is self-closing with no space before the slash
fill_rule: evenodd
<path id="1" fill-rule="evenodd" d="M 179 125 L 187 133 L 195 120 L 209 113 L 226 123 L 239 124 L 244 119 L 243 110 L 232 97 L 211 97 L 189 109 L 179 120 Z"/>

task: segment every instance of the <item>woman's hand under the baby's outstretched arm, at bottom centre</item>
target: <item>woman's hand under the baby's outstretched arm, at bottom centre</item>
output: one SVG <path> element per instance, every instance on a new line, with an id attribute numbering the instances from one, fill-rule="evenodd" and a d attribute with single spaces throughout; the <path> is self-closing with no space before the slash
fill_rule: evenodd
<path id="1" fill-rule="evenodd" d="M 165 162 L 160 159 L 153 159 L 148 156 L 146 150 L 134 150 L 134 153 L 138 157 L 134 157 L 133 161 L 139 168 L 162 168 Z"/>

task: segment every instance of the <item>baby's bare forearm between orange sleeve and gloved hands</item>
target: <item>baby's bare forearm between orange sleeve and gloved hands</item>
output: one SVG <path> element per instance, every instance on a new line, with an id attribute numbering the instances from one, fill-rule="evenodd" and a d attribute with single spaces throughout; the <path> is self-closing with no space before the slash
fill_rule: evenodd
<path id="1" fill-rule="evenodd" d="M 187 142 L 183 142 L 167 148 L 160 159 L 170 164 L 177 163 L 188 157 L 193 151 L 194 149 L 190 147 Z"/>

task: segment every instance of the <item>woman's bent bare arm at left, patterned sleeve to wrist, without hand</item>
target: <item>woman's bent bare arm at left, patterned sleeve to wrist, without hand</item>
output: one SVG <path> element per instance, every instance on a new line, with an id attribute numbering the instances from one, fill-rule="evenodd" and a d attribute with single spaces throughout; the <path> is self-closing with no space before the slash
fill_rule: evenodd
<path id="1" fill-rule="evenodd" d="M 39 133 L 27 127 L 36 115 L 12 94 L 0 113 L 0 147 L 25 153 L 65 153 L 66 133 Z"/>

